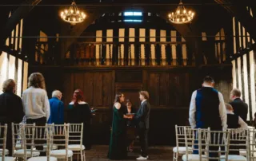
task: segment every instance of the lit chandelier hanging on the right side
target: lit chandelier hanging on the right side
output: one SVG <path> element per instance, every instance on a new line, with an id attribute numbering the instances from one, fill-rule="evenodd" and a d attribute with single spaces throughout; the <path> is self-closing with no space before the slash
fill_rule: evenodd
<path id="1" fill-rule="evenodd" d="M 169 14 L 170 22 L 174 24 L 185 24 L 191 22 L 194 18 L 194 12 L 191 10 L 186 10 L 185 6 L 182 3 L 182 0 L 179 2 L 178 7 L 174 12 Z"/>

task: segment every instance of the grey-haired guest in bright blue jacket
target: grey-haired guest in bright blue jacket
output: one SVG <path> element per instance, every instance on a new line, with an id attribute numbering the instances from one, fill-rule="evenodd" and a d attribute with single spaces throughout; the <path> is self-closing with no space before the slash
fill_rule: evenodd
<path id="1" fill-rule="evenodd" d="M 50 119 L 48 124 L 64 124 L 64 104 L 62 102 L 62 92 L 54 90 L 50 102 Z"/>

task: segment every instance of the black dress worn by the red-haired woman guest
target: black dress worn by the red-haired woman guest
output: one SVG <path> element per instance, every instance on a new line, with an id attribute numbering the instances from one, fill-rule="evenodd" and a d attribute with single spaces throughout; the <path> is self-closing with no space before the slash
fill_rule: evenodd
<path id="1" fill-rule="evenodd" d="M 90 150 L 90 119 L 91 112 L 89 104 L 86 102 L 79 102 L 78 105 L 74 106 L 71 102 L 68 106 L 68 122 L 70 124 L 81 124 L 83 123 L 83 135 L 82 143 L 86 146 L 86 150 Z"/>

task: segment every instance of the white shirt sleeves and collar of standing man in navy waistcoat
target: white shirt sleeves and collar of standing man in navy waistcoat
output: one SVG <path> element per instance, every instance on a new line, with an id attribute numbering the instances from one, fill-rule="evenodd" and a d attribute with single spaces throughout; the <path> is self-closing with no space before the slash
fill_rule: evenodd
<path id="1" fill-rule="evenodd" d="M 210 87 L 206 86 L 205 87 Z M 191 97 L 190 101 L 190 126 L 191 128 L 196 128 L 196 120 L 195 120 L 195 112 L 196 112 L 196 104 L 195 104 L 195 98 L 197 96 L 197 91 L 194 91 Z M 226 128 L 226 107 L 225 107 L 225 102 L 222 96 L 221 92 L 218 92 L 218 100 L 219 100 L 219 116 L 221 117 L 222 120 L 222 128 Z"/>

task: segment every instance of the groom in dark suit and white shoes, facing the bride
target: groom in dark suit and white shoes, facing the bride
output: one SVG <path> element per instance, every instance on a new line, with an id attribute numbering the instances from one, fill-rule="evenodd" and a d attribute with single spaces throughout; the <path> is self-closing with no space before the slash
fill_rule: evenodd
<path id="1" fill-rule="evenodd" d="M 134 119 L 138 122 L 139 131 L 139 142 L 142 148 L 142 155 L 137 158 L 137 160 L 148 159 L 148 132 L 150 128 L 150 103 L 148 99 L 150 98 L 149 93 L 146 91 L 139 92 L 139 99 L 142 101 L 141 107 L 135 114 Z"/>

